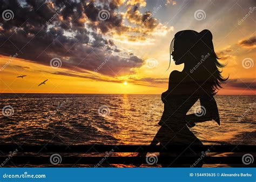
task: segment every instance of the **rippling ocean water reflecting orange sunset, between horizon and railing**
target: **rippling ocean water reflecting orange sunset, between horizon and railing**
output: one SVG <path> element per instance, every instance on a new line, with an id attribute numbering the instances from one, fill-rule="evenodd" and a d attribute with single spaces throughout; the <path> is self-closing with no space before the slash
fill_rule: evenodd
<path id="1" fill-rule="evenodd" d="M 160 95 L 0 96 L 1 109 L 12 107 L 11 116 L 0 116 L 0 144 L 149 145 L 164 109 Z M 255 145 L 256 97 L 215 96 L 215 100 L 220 126 L 213 121 L 198 123 L 191 131 L 205 145 Z"/>

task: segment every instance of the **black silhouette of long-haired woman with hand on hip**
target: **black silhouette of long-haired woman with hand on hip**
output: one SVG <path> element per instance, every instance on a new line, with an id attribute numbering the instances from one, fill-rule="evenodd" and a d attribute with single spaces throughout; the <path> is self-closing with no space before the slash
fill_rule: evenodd
<path id="1" fill-rule="evenodd" d="M 169 88 L 161 95 L 164 103 L 163 116 L 160 119 L 159 131 L 151 145 L 203 145 L 188 129 L 198 122 L 215 120 L 220 124 L 215 93 L 226 79 L 221 77 L 224 65 L 218 62 L 212 43 L 212 33 L 203 30 L 179 31 L 171 42 L 170 52 L 176 65 L 184 63 L 183 71 L 173 71 L 169 78 Z M 188 110 L 200 99 L 201 111 L 188 114 Z M 199 112 L 200 111 L 200 112 Z M 188 152 L 190 152 L 188 154 Z M 191 150 L 178 153 L 160 153 L 160 156 L 195 156 Z M 140 153 L 138 156 L 145 156 Z M 163 167 L 190 167 L 193 163 L 183 165 L 162 164 Z M 201 167 L 199 163 L 193 167 Z"/>

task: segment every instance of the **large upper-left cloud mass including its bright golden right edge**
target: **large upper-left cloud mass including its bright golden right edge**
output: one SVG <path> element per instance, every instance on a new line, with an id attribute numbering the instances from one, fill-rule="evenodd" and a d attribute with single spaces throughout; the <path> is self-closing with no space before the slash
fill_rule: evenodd
<path id="1" fill-rule="evenodd" d="M 125 5 L 125 12 L 117 11 Z M 10 9 L 14 19 L 0 23 L 0 53 L 19 53 L 18 58 L 50 66 L 52 58 L 62 60 L 62 68 L 93 71 L 111 57 L 98 72 L 109 76 L 129 75 L 144 60 L 120 49 L 114 41 L 153 44 L 149 36 L 163 36 L 173 28 L 161 24 L 142 0 L 92 1 L 1 1 L 1 12 Z M 59 11 L 59 10 L 62 11 Z M 109 15 L 103 21 L 99 13 Z M 125 25 L 129 21 L 133 25 Z M 144 22 L 144 23 L 143 23 Z M 136 25 L 136 26 L 134 26 Z"/>

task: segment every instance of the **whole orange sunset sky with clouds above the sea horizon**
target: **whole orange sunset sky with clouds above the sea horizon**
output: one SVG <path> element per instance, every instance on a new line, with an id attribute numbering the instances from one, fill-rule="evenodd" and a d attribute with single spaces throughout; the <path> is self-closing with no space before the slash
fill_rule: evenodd
<path id="1" fill-rule="evenodd" d="M 161 93 L 170 72 L 183 69 L 171 60 L 167 70 L 174 34 L 208 29 L 229 75 L 218 94 L 255 95 L 255 6 L 254 0 L 1 1 L 0 92 Z"/>

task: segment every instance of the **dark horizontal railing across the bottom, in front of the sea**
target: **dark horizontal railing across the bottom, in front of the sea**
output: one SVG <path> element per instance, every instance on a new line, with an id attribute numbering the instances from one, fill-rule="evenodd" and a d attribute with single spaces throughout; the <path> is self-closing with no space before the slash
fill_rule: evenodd
<path id="1" fill-rule="evenodd" d="M 183 145 L 0 145 L 2 153 L 17 151 L 10 161 L 14 164 L 52 164 L 50 156 L 57 153 L 61 156 L 61 164 L 98 164 L 103 157 L 65 157 L 64 153 L 103 153 L 105 152 L 167 152 L 176 153 L 174 157 L 157 157 L 157 164 L 193 164 L 198 157 L 187 157 L 191 153 L 224 153 L 233 152 L 236 156 L 231 157 L 201 157 L 204 164 L 245 164 L 242 156 L 249 154 L 252 157 L 250 164 L 255 165 L 253 160 L 256 153 L 254 145 L 204 145 L 204 146 L 183 146 Z M 22 153 L 22 155 L 20 155 Z M 38 154 L 44 154 L 38 156 Z M 186 157 L 183 154 L 186 153 Z M 48 157 L 47 157 L 48 156 Z M 146 157 L 105 157 L 104 163 L 108 164 L 146 164 Z M 0 162 L 6 160 L 6 156 L 0 157 Z"/>

